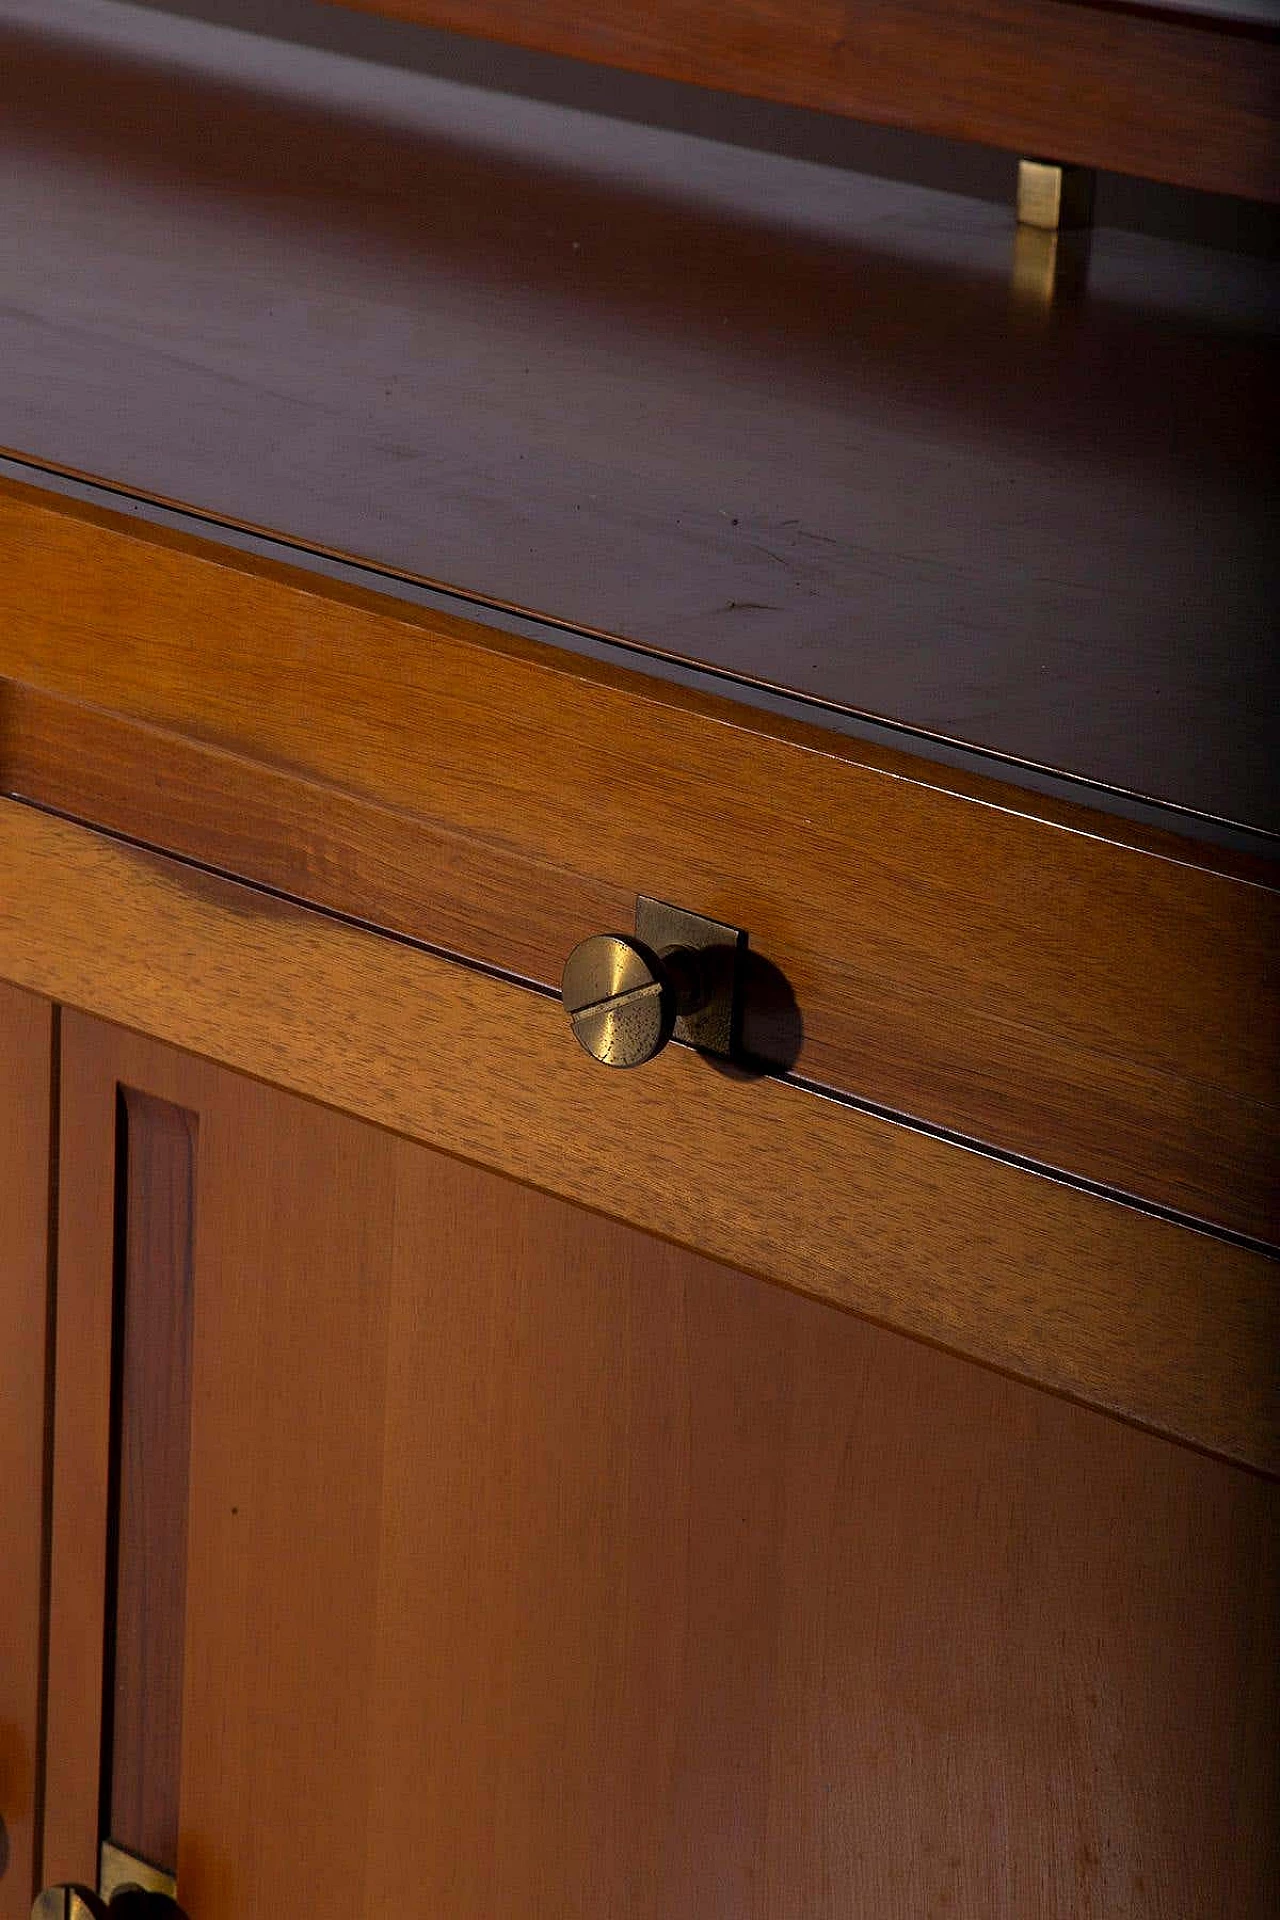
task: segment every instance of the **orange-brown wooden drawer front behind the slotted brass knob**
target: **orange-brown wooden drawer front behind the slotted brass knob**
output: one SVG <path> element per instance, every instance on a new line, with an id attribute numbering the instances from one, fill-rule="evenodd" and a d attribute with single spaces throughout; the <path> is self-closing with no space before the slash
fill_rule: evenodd
<path id="1" fill-rule="evenodd" d="M 745 925 L 796 1071 L 1276 1238 L 1270 868 L 0 488 L 0 787 L 558 981 Z"/>

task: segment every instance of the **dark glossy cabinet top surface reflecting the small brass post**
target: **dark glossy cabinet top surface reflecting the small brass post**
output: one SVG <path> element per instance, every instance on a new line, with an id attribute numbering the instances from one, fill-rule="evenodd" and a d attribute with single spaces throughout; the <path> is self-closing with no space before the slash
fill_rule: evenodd
<path id="1" fill-rule="evenodd" d="M 0 0 L 0 227 L 4 447 L 1280 826 L 1265 259 L 1100 228 L 1050 315 L 1011 163 L 992 205 L 107 0 Z"/>

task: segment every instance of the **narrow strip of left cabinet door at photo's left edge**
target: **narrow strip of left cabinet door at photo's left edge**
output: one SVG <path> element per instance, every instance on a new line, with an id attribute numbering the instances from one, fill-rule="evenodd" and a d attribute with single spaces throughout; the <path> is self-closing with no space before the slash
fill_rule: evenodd
<path id="1" fill-rule="evenodd" d="M 0 1920 L 38 1868 L 54 1008 L 0 981 Z"/>

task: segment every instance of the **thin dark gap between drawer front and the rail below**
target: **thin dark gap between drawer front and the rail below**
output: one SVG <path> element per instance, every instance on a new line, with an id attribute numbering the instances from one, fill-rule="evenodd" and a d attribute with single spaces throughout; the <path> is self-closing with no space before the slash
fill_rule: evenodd
<path id="1" fill-rule="evenodd" d="M 261 879 L 246 879 L 244 874 L 234 874 L 228 868 L 213 866 L 207 860 L 198 860 L 192 854 L 173 852 L 167 847 L 159 847 L 154 841 L 138 839 L 132 833 L 121 833 L 113 828 L 104 828 L 92 820 L 84 820 L 79 814 L 65 812 L 59 806 L 50 806 L 44 801 L 35 801 L 25 793 L 6 791 L 0 795 L 17 806 L 27 806 L 31 812 L 46 814 L 50 820 L 63 820 L 67 826 L 84 828 L 96 833 L 100 839 L 115 841 L 119 847 L 132 847 L 136 852 L 150 852 L 157 858 L 169 862 L 177 868 L 186 868 L 192 874 L 207 874 L 211 879 L 225 879 L 234 887 L 242 887 L 248 893 L 255 893 L 261 899 L 276 900 L 282 906 L 296 906 L 307 914 L 317 914 L 320 920 L 332 920 L 338 925 L 353 927 L 357 933 L 368 933 L 374 939 L 391 941 L 397 947 L 405 947 L 413 952 L 430 954 L 434 960 L 445 960 L 451 966 L 464 968 L 468 973 L 482 973 L 486 979 L 501 981 L 507 987 L 518 987 L 524 993 L 535 993 L 543 1000 L 558 1000 L 560 993 L 557 987 L 547 985 L 541 979 L 532 979 L 528 973 L 516 973 L 510 968 L 495 966 L 491 960 L 476 960 L 470 954 L 453 950 L 451 947 L 436 945 L 434 941 L 424 941 L 416 933 L 403 933 L 395 927 L 378 925 L 372 920 L 363 920 L 359 914 L 345 914 L 340 906 L 324 906 L 315 900 L 305 899 L 299 893 L 290 893 L 284 887 L 273 887 Z M 674 1044 L 685 1044 L 676 1041 Z M 1140 1194 L 1130 1194 L 1123 1187 L 1109 1187 L 1105 1181 L 1092 1181 L 1082 1173 L 1069 1173 L 1065 1167 L 1055 1167 L 1050 1162 L 1032 1160 L 1027 1154 L 1011 1152 L 1009 1148 L 996 1146 L 988 1140 L 981 1140 L 975 1135 L 958 1133 L 952 1127 L 942 1127 L 935 1121 L 921 1119 L 915 1114 L 906 1114 L 898 1108 L 881 1106 L 877 1100 L 867 1100 L 862 1094 L 844 1091 L 842 1087 L 829 1087 L 823 1081 L 810 1079 L 804 1073 L 775 1071 L 768 1075 L 785 1087 L 794 1087 L 796 1092 L 806 1092 L 818 1100 L 831 1100 L 837 1106 L 852 1108 L 858 1114 L 867 1114 L 871 1119 L 885 1121 L 892 1127 L 904 1127 L 908 1133 L 919 1133 L 925 1139 L 940 1140 L 946 1146 L 958 1146 L 963 1152 L 979 1154 L 983 1160 L 998 1160 L 1007 1167 L 1017 1167 L 1021 1173 L 1036 1175 L 1038 1179 L 1052 1181 L 1055 1187 L 1069 1187 L 1075 1192 L 1092 1194 L 1098 1200 L 1109 1200 L 1113 1206 L 1128 1208 L 1134 1213 L 1146 1213 L 1151 1219 L 1169 1221 L 1173 1227 L 1182 1227 L 1192 1233 L 1205 1235 L 1211 1240 L 1222 1240 L 1228 1246 L 1238 1246 L 1251 1254 L 1263 1254 L 1268 1260 L 1280 1260 L 1280 1246 L 1268 1240 L 1261 1240 L 1255 1235 L 1240 1233 L 1234 1227 L 1222 1227 L 1217 1221 L 1201 1219 L 1196 1213 L 1184 1213 L 1178 1208 L 1163 1206 L 1159 1200 L 1146 1200 Z"/>

